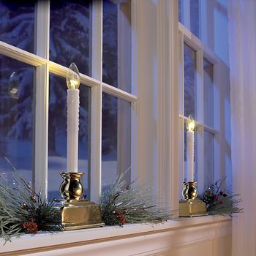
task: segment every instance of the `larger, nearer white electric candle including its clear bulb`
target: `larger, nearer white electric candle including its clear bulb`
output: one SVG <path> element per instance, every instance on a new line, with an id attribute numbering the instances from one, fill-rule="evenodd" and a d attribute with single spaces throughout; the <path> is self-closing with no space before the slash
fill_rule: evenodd
<path id="1" fill-rule="evenodd" d="M 67 172 L 78 173 L 79 71 L 75 63 L 67 72 Z"/>

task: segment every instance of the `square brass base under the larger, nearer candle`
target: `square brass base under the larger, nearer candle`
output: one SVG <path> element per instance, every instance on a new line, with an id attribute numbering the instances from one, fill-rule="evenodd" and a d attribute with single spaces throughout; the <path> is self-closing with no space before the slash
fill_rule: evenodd
<path id="1" fill-rule="evenodd" d="M 60 209 L 62 230 L 104 227 L 99 206 L 88 200 L 56 200 Z"/>

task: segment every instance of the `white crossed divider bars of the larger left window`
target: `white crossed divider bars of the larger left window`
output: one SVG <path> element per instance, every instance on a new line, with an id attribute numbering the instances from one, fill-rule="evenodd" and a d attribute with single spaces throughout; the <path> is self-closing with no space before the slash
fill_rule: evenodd
<path id="1" fill-rule="evenodd" d="M 50 1 L 38 1 L 35 12 L 35 54 L 5 42 L 0 42 L 0 53 L 36 68 L 33 181 L 35 190 L 40 191 L 42 196 L 47 197 L 49 74 L 53 73 L 66 78 L 67 67 L 49 60 Z M 135 94 L 130 94 L 127 91 L 102 82 L 102 1 L 93 1 L 91 22 L 92 45 L 94 45 L 91 49 L 91 77 L 80 74 L 80 86 L 89 86 L 91 88 L 91 180 L 89 181 L 91 186 L 89 194 L 91 195 L 91 200 L 97 201 L 101 192 L 102 93 L 105 92 L 118 99 L 130 102 L 132 112 L 135 112 L 138 97 Z M 136 114 L 132 114 L 132 133 L 136 129 L 134 125 L 137 123 L 136 118 Z M 132 173 L 135 170 L 137 170 L 137 167 L 133 162 Z"/>

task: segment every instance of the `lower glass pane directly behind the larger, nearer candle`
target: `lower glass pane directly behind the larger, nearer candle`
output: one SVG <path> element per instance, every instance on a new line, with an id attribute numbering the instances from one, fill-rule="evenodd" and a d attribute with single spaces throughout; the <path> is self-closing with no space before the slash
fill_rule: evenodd
<path id="1" fill-rule="evenodd" d="M 88 195 L 89 88 L 80 85 L 78 171 L 84 194 Z M 50 74 L 48 197 L 60 198 L 61 171 L 67 171 L 67 84 L 65 78 Z"/>

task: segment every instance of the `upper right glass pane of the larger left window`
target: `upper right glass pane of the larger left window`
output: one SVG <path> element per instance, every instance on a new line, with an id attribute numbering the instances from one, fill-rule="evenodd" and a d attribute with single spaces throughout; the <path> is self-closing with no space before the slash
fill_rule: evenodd
<path id="1" fill-rule="evenodd" d="M 131 31 L 129 2 L 103 1 L 102 80 L 124 91 L 131 91 Z"/>

